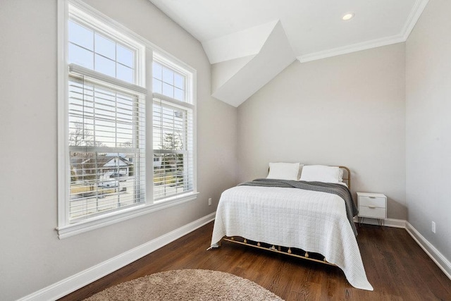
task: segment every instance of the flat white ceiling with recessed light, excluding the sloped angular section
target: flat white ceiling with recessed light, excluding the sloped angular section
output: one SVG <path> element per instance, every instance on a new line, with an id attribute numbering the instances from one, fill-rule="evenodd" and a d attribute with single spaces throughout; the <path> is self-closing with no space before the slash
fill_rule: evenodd
<path id="1" fill-rule="evenodd" d="M 280 20 L 297 59 L 311 61 L 402 42 L 428 0 L 150 1 L 202 44 Z"/>

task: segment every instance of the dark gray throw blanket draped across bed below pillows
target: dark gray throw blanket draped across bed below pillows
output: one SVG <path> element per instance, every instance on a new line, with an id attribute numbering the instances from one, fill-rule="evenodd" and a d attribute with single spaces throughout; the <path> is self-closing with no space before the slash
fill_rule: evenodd
<path id="1" fill-rule="evenodd" d="M 319 192 L 332 193 L 338 195 L 345 200 L 347 219 L 350 221 L 352 231 L 357 236 L 357 229 L 355 228 L 353 217 L 359 213 L 359 209 L 352 199 L 352 194 L 345 185 L 335 183 L 323 182 L 306 182 L 296 180 L 277 180 L 277 179 L 255 179 L 250 182 L 238 184 L 247 186 L 263 186 L 263 187 L 281 187 L 281 188 L 299 188 L 304 190 L 313 190 Z"/>

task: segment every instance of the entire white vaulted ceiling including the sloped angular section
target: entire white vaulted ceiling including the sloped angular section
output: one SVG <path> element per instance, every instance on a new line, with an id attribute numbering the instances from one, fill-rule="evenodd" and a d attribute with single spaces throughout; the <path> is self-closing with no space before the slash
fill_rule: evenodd
<path id="1" fill-rule="evenodd" d="M 211 94 L 239 106 L 292 61 L 404 42 L 428 0 L 150 0 L 202 42 Z M 353 18 L 342 20 L 347 13 Z"/>

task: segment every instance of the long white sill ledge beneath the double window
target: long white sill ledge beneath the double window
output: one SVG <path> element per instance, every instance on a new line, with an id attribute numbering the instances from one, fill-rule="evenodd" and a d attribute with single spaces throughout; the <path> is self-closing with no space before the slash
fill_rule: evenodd
<path id="1" fill-rule="evenodd" d="M 102 228 L 112 225 L 113 223 L 119 223 L 121 221 L 127 221 L 137 216 L 149 214 L 150 212 L 158 211 L 168 207 L 173 207 L 185 202 L 194 201 L 197 199 L 199 192 L 190 192 L 185 195 L 178 195 L 178 197 L 168 198 L 161 201 L 156 201 L 154 204 L 142 204 L 137 207 L 124 209 L 123 211 L 112 212 L 111 214 L 105 214 L 103 216 L 96 216 L 92 219 L 80 221 L 78 223 L 69 224 L 66 226 L 56 227 L 58 232 L 58 238 L 69 238 L 70 236 L 77 235 L 92 231 L 94 229 Z"/>

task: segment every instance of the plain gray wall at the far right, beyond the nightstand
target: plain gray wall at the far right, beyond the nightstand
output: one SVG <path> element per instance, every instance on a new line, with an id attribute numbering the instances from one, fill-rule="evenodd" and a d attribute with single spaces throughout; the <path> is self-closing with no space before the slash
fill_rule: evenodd
<path id="1" fill-rule="evenodd" d="M 406 44 L 408 221 L 451 260 L 451 1 L 431 0 Z M 431 222 L 436 223 L 436 233 Z"/>

